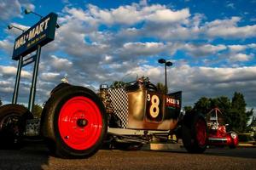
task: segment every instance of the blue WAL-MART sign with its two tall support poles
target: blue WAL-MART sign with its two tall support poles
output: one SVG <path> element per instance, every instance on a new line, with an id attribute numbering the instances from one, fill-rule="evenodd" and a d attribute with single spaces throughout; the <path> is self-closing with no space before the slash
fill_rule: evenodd
<path id="1" fill-rule="evenodd" d="M 19 65 L 15 80 L 15 93 L 12 103 L 17 103 L 21 68 L 23 66 L 31 64 L 32 62 L 35 62 L 33 67 L 32 84 L 30 88 L 28 103 L 28 109 L 31 112 L 35 103 L 41 47 L 55 39 L 57 16 L 58 15 L 55 13 L 48 14 L 47 16 L 39 20 L 37 24 L 24 31 L 19 37 L 15 39 L 15 47 L 12 59 L 19 60 Z M 36 55 L 33 55 L 32 57 L 23 60 L 23 56 L 26 56 L 27 54 L 32 54 L 32 52 L 34 51 L 37 51 Z"/>

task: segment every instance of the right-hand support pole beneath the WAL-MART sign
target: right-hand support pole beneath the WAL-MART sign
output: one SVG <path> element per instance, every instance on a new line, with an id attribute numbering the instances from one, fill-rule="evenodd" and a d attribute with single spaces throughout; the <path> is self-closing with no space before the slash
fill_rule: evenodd
<path id="1" fill-rule="evenodd" d="M 32 109 L 33 109 L 33 106 L 34 106 L 34 103 L 35 103 L 40 54 L 41 54 L 41 46 L 38 45 L 37 54 L 36 54 L 37 55 L 36 56 L 36 62 L 35 62 L 35 65 L 34 65 L 34 70 L 33 70 L 32 85 L 31 85 L 30 95 L 29 95 L 29 103 L 28 103 L 28 110 L 31 111 L 31 112 L 32 112 Z"/>

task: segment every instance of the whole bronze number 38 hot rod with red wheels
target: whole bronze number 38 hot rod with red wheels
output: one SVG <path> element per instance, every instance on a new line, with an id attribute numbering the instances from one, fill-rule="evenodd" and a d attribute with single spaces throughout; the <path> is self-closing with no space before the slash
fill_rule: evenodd
<path id="1" fill-rule="evenodd" d="M 57 156 L 91 156 L 102 144 L 139 147 L 154 138 L 176 134 L 189 152 L 207 146 L 207 123 L 201 114 L 182 116 L 181 92 L 163 94 L 138 78 L 122 87 L 88 88 L 61 83 L 44 106 L 41 133 Z"/>

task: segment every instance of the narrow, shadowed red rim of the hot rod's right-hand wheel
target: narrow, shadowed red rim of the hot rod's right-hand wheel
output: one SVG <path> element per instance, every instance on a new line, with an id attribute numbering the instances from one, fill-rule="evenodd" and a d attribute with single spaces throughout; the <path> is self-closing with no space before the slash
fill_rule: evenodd
<path id="1" fill-rule="evenodd" d="M 202 120 L 199 119 L 196 122 L 195 125 L 195 129 L 196 129 L 196 139 L 198 141 L 198 144 L 203 146 L 206 144 L 206 140 L 207 140 L 207 126 L 206 123 Z"/>

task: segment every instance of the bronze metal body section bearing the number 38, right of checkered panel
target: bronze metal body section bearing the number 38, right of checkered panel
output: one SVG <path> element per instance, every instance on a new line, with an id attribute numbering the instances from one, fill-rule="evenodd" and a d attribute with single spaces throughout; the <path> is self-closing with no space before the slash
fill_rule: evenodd
<path id="1" fill-rule="evenodd" d="M 167 102 L 167 99 L 175 100 L 172 95 L 148 91 L 146 88 L 139 88 L 136 91 L 128 92 L 127 95 L 127 128 L 171 130 L 177 127 L 180 102 L 178 101 L 177 105 L 167 105 L 167 103 L 170 103 Z"/>

